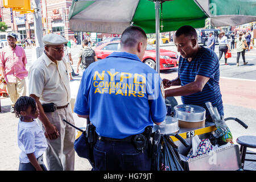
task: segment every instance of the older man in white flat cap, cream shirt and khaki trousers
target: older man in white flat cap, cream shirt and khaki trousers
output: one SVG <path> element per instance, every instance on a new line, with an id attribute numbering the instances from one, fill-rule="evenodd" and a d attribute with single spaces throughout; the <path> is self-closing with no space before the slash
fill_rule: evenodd
<path id="1" fill-rule="evenodd" d="M 46 132 L 46 160 L 50 171 L 71 171 L 75 164 L 75 129 L 67 67 L 63 59 L 68 40 L 57 34 L 43 37 L 44 53 L 28 72 L 30 96 L 38 104 L 39 119 Z"/>

